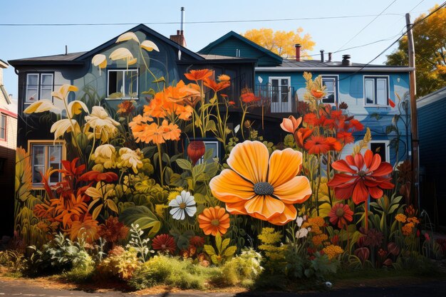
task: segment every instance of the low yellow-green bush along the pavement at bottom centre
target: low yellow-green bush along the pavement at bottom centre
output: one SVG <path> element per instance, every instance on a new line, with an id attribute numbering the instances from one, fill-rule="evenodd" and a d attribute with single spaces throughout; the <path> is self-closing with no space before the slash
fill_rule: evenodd
<path id="1" fill-rule="evenodd" d="M 138 290 L 157 285 L 203 289 L 215 270 L 193 264 L 190 260 L 154 256 L 135 271 L 128 283 Z"/>

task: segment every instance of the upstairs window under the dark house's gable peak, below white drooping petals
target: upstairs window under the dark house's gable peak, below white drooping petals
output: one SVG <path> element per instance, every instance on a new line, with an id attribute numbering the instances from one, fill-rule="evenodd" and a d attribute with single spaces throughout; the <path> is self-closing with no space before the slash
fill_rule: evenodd
<path id="1" fill-rule="evenodd" d="M 138 69 L 109 70 L 107 98 L 138 98 Z"/>

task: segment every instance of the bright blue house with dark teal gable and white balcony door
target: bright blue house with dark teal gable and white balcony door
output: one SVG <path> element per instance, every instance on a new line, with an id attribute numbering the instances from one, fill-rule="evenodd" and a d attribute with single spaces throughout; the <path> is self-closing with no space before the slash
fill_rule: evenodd
<path id="1" fill-rule="evenodd" d="M 360 120 L 364 127 L 370 127 L 373 139 L 370 148 L 377 150 L 379 147 L 383 160 L 395 164 L 409 155 L 409 127 L 403 125 L 402 120 L 397 121 L 400 135 L 397 153 L 395 142 L 391 143 L 395 138 L 395 130 L 390 130 L 388 126 L 393 125 L 399 117 L 404 120 L 409 117 L 410 112 L 405 112 L 402 102 L 408 99 L 409 71 L 412 68 L 351 63 L 348 55 L 343 56 L 343 61 L 335 62 L 331 61 L 331 53 L 326 61 L 323 52 L 321 60 L 303 61 L 300 58 L 300 46 L 297 45 L 296 58 L 284 59 L 233 31 L 209 43 L 199 53 L 258 59 L 254 93 L 264 105 L 264 119 L 268 122 L 264 125 L 264 134 L 275 135 L 276 141 L 286 135 L 286 132 L 277 130 L 281 119 L 299 114 L 298 102 L 303 100 L 305 93 L 303 74 L 311 72 L 313 78 L 322 75 L 323 84 L 327 87 L 328 96 L 323 98 L 323 103 L 347 103 L 348 112 Z M 393 103 L 395 107 L 391 106 Z M 361 140 L 363 133 L 356 133 L 355 136 L 356 140 Z M 346 147 L 343 153 L 351 153 L 351 147 L 353 145 Z"/>

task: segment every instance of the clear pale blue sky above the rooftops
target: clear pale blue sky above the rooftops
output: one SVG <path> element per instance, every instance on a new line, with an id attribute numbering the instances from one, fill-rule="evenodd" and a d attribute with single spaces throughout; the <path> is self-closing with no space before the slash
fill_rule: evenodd
<path id="1" fill-rule="evenodd" d="M 0 24 L 98 24 L 135 23 L 169 36 L 180 28 L 179 24 L 148 24 L 180 21 L 180 7 L 185 6 L 185 21 L 232 21 L 258 19 L 296 19 L 328 16 L 353 16 L 380 14 L 393 0 L 319 0 L 319 1 L 149 1 L 149 0 L 77 0 L 77 1 L 2 1 Z M 421 3 L 420 3 L 421 2 Z M 333 56 L 351 54 L 351 60 L 368 63 L 390 45 L 405 28 L 404 14 L 413 9 L 412 19 L 432 8 L 438 1 L 397 0 L 383 15 L 373 21 L 344 48 L 387 39 L 371 46 L 344 51 Z M 398 14 L 398 15 L 395 15 Z M 186 24 L 187 47 L 198 51 L 228 31 L 243 33 L 251 28 L 295 30 L 303 28 L 310 33 L 316 46 L 313 53 L 324 49 L 336 51 L 356 35 L 375 16 L 346 19 L 318 19 L 299 21 L 263 21 L 217 24 Z M 0 26 L 0 59 L 49 56 L 65 52 L 89 51 L 118 36 L 135 25 L 118 26 Z M 387 52 L 390 53 L 391 49 Z M 373 63 L 383 63 L 385 55 Z M 4 84 L 9 93 L 17 95 L 17 75 L 14 68 L 4 70 Z"/>

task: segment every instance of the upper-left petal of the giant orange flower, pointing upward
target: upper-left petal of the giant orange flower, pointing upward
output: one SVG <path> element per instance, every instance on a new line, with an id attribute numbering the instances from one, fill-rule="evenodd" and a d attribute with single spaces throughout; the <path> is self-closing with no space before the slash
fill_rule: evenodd
<path id="1" fill-rule="evenodd" d="M 242 177 L 256 184 L 266 181 L 268 159 L 269 152 L 263 143 L 246 140 L 232 149 L 227 164 Z"/>

